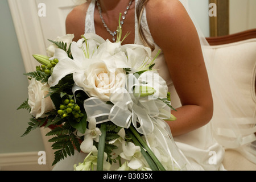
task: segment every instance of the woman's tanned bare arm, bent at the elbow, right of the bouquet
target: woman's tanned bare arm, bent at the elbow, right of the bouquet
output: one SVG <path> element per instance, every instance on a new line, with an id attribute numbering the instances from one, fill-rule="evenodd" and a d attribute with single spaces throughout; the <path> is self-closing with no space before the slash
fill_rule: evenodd
<path id="1" fill-rule="evenodd" d="M 173 113 L 177 120 L 168 124 L 174 136 L 185 134 L 207 124 L 213 113 L 212 94 L 199 37 L 179 1 L 150 1 L 146 10 L 151 34 L 162 48 L 183 105 Z"/>

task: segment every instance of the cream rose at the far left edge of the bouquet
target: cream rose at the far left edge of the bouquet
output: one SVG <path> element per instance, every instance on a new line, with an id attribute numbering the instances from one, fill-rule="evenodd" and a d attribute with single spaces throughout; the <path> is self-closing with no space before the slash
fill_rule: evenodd
<path id="1" fill-rule="evenodd" d="M 28 105 L 31 107 L 30 114 L 35 118 L 44 117 L 47 111 L 55 109 L 51 97 L 46 97 L 48 94 L 49 85 L 42 84 L 40 81 L 31 79 L 28 85 Z"/>

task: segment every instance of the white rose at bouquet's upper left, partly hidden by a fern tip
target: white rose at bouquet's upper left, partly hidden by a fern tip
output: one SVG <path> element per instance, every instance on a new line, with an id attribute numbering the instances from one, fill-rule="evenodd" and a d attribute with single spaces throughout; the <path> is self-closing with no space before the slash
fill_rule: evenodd
<path id="1" fill-rule="evenodd" d="M 58 36 L 54 41 L 55 42 L 64 42 L 67 43 L 67 48 L 69 47 L 69 45 L 72 43 L 72 40 L 74 38 L 74 34 L 67 34 L 65 36 Z M 55 53 L 55 49 L 58 48 L 55 44 L 51 44 L 49 45 L 49 47 L 47 47 L 46 49 L 46 52 L 47 52 L 47 55 L 49 57 L 53 57 L 54 53 Z"/>

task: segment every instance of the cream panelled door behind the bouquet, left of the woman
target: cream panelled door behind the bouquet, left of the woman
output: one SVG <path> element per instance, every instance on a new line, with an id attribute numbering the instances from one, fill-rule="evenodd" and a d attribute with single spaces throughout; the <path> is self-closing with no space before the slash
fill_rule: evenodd
<path id="1" fill-rule="evenodd" d="M 46 55 L 46 48 L 50 44 L 48 39 L 65 35 L 65 18 L 77 5 L 77 0 L 8 0 L 14 27 L 22 53 L 26 72 L 35 71 L 37 61 L 32 55 Z M 45 7 L 39 6 L 43 3 Z M 45 8 L 45 15 L 39 16 L 39 11 Z M 41 129 L 45 146 L 48 166 L 54 159 L 54 151 L 46 137 L 48 129 Z M 51 137 L 50 137 L 51 138 Z"/>

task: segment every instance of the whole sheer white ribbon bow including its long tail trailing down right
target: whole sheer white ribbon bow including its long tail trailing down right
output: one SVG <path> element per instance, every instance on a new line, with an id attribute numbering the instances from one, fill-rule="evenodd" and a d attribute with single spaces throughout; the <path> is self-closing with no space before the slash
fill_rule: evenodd
<path id="1" fill-rule="evenodd" d="M 165 151 L 165 156 L 170 157 L 172 169 L 174 167 L 184 169 L 185 160 L 176 147 L 170 127 L 163 121 L 171 117 L 170 107 L 158 99 L 135 97 L 134 89 L 139 86 L 139 82 L 134 75 L 129 75 L 127 82 L 130 79 L 133 79 L 133 84 L 127 83 L 126 88 L 118 88 L 115 93 L 112 93 L 110 96 L 112 104 L 107 104 L 96 97 L 86 99 L 84 109 L 88 118 L 95 118 L 97 124 L 112 121 L 115 125 L 126 129 L 133 123 L 135 129 L 144 135 L 149 147 L 147 135 L 153 131 L 156 132 L 158 134 L 156 136 L 158 146 L 162 148 L 162 151 Z M 77 90 L 83 89 L 74 85 L 73 93 L 75 94 Z"/>

